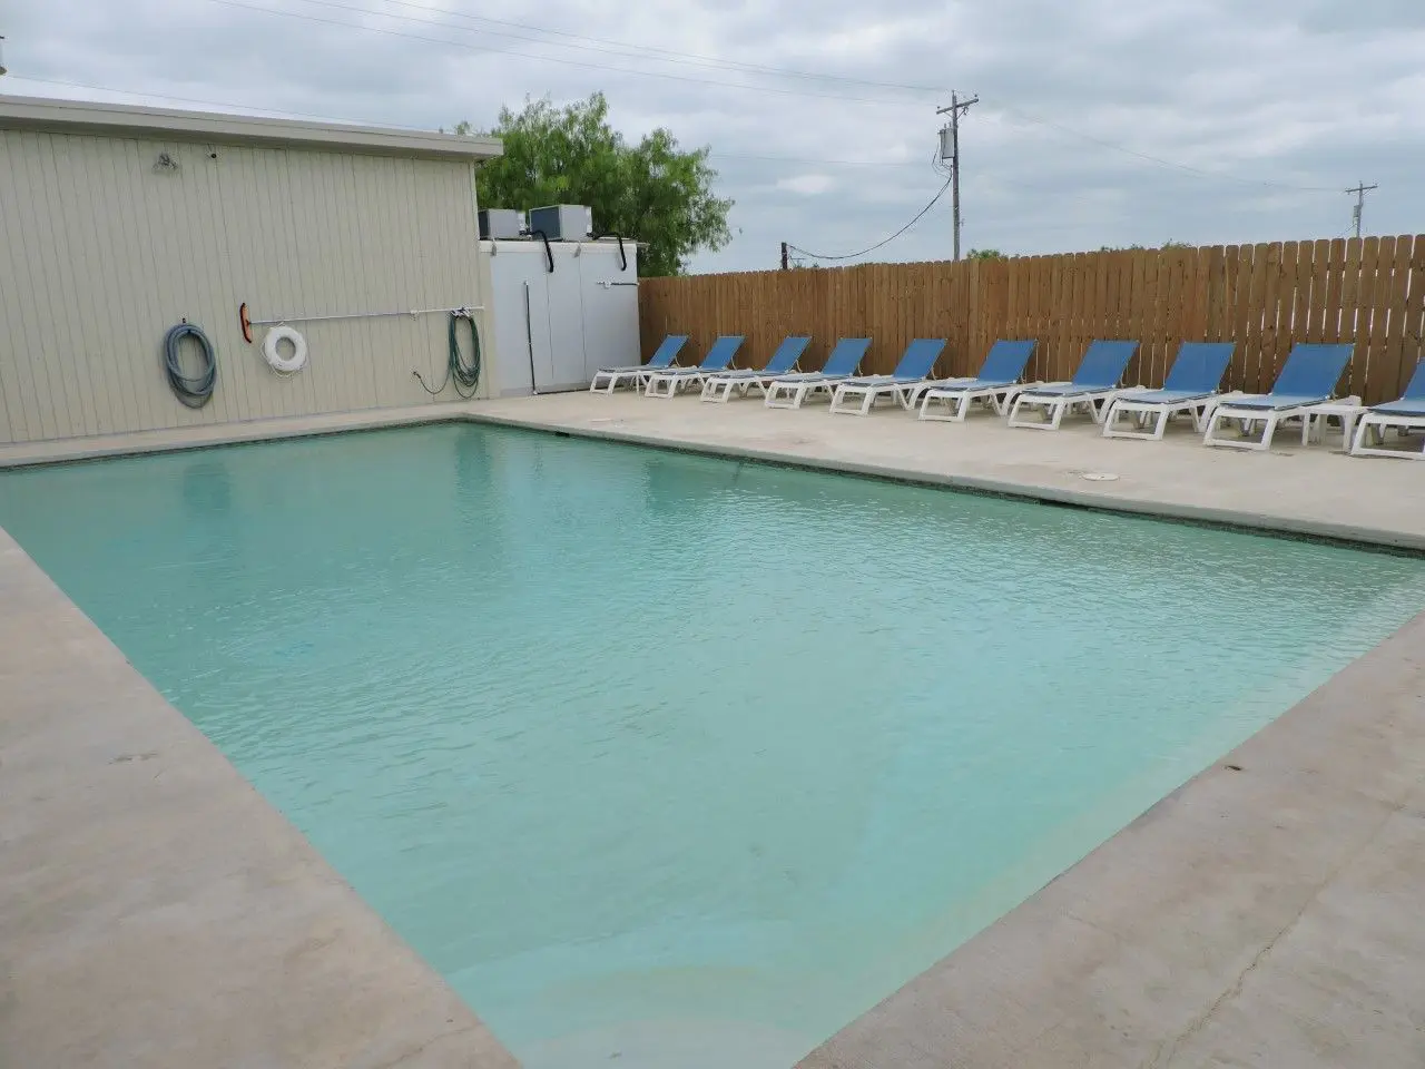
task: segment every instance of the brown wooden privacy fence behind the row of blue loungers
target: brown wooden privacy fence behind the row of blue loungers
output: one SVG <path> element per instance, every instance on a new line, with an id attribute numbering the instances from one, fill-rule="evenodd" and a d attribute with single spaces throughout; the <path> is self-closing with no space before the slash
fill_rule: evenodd
<path id="1" fill-rule="evenodd" d="M 740 365 L 760 366 L 809 334 L 814 369 L 836 338 L 869 336 L 862 369 L 881 373 L 912 338 L 946 338 L 949 376 L 975 373 L 996 338 L 1036 338 L 1032 376 L 1067 379 L 1090 341 L 1127 338 L 1141 345 L 1126 382 L 1160 386 L 1180 342 L 1235 341 L 1224 388 L 1254 393 L 1294 342 L 1349 341 L 1341 391 L 1377 403 L 1425 355 L 1425 235 L 653 278 L 638 304 L 644 355 L 667 334 L 700 353 L 741 334 Z"/>

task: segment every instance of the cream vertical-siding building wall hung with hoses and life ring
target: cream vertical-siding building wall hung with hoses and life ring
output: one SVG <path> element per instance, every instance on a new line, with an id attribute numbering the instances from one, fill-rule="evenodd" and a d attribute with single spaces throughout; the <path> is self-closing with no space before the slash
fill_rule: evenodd
<path id="1" fill-rule="evenodd" d="M 453 401 L 410 373 L 439 382 L 442 315 L 294 324 L 309 361 L 278 379 L 238 305 L 269 319 L 487 291 L 467 161 L 0 131 L 0 443 Z M 218 353 L 197 410 L 160 356 L 184 318 Z"/>

